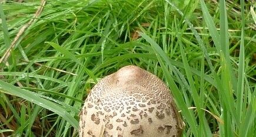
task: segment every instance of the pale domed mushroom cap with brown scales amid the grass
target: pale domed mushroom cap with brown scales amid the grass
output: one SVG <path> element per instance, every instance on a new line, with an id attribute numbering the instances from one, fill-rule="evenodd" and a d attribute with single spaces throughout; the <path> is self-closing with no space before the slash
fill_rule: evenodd
<path id="1" fill-rule="evenodd" d="M 125 66 L 92 88 L 79 136 L 180 136 L 183 127 L 168 87 L 142 68 Z"/>

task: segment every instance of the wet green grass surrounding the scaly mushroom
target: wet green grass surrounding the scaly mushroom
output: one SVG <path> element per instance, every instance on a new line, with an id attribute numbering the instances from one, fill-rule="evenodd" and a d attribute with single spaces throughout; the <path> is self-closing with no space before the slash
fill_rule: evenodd
<path id="1" fill-rule="evenodd" d="M 182 2 L 46 1 L 1 61 L 0 135 L 78 136 L 90 89 L 133 64 L 171 89 L 182 136 L 256 136 L 256 5 Z M 0 4 L 1 58 L 40 5 Z"/>

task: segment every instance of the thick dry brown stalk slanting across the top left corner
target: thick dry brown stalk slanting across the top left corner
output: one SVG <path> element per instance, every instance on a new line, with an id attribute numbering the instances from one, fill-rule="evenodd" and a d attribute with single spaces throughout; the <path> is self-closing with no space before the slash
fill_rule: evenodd
<path id="1" fill-rule="evenodd" d="M 42 0 L 41 5 L 39 6 L 38 10 L 35 12 L 35 15 L 33 16 L 33 18 L 31 20 L 29 20 L 29 22 L 26 23 L 26 25 L 22 26 L 22 28 L 19 30 L 18 34 L 14 38 L 14 41 L 12 41 L 11 46 L 9 46 L 9 48 L 6 50 L 5 54 L 0 59 L 0 63 L 2 63 L 4 61 L 5 64 L 8 66 L 7 60 L 10 56 L 11 50 L 14 48 L 14 46 L 15 46 L 16 42 L 18 41 L 19 37 L 21 37 L 21 35 L 25 32 L 26 28 L 28 28 L 32 24 L 32 22 L 34 22 L 34 20 L 36 18 L 38 18 L 38 16 L 41 14 L 42 10 L 44 9 L 45 3 L 46 3 L 46 1 Z"/>

